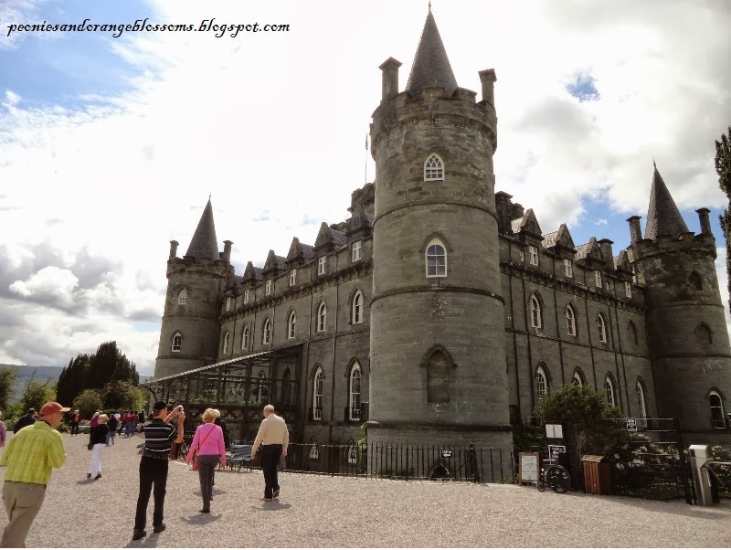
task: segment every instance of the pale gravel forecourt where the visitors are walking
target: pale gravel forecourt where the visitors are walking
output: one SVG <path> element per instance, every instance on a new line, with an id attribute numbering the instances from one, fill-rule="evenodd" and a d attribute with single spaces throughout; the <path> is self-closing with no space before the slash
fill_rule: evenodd
<path id="1" fill-rule="evenodd" d="M 132 542 L 142 440 L 117 439 L 103 476 L 87 481 L 88 437 L 64 435 L 68 458 L 54 473 L 27 538 L 34 547 L 288 546 L 731 546 L 731 504 L 689 506 L 532 487 L 379 481 L 280 474 L 279 502 L 259 502 L 260 471 L 218 471 L 212 513 L 197 474 L 170 465 L 167 530 Z M 4 472 L 5 469 L 0 469 Z M 5 526 L 5 514 L 2 524 Z"/>

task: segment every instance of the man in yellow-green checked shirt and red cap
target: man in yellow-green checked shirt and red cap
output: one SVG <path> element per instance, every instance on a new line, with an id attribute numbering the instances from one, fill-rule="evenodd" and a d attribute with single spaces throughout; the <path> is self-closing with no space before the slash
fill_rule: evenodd
<path id="1" fill-rule="evenodd" d="M 30 525 L 46 496 L 54 468 L 66 460 L 61 434 L 56 431 L 69 407 L 56 402 L 40 409 L 38 421 L 16 433 L 5 448 L 0 466 L 6 466 L 3 502 L 8 524 L 0 546 L 23 548 Z"/>

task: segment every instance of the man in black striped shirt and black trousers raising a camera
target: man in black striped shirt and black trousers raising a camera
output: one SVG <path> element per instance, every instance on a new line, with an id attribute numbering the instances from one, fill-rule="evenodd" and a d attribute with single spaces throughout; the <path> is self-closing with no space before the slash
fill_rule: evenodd
<path id="1" fill-rule="evenodd" d="M 153 420 L 144 426 L 143 458 L 140 460 L 140 496 L 137 499 L 137 513 L 134 517 L 132 540 L 136 541 L 147 534 L 147 503 L 154 485 L 153 531 L 162 533 L 165 486 L 167 484 L 167 460 L 172 444 L 181 442 L 184 436 L 185 413 L 183 406 L 175 407 L 168 414 L 168 406 L 158 401 L 153 407 Z M 170 421 L 177 416 L 177 429 Z"/>

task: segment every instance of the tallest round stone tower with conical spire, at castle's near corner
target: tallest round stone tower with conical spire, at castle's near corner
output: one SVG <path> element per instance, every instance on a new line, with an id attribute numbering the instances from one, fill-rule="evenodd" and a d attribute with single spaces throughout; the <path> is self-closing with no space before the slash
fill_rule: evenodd
<path id="1" fill-rule="evenodd" d="M 493 69 L 457 86 L 434 16 L 406 90 L 381 65 L 368 440 L 512 448 L 498 259 Z"/>

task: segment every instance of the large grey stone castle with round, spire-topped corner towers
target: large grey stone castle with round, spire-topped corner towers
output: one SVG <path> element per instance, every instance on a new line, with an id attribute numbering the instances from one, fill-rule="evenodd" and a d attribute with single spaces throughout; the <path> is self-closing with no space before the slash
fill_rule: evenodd
<path id="1" fill-rule="evenodd" d="M 210 201 L 182 258 L 171 242 L 152 386 L 186 377 L 187 399 L 207 391 L 234 439 L 272 402 L 301 442 L 354 441 L 367 420 L 375 442 L 511 449 L 514 425 L 569 384 L 627 417 L 727 434 L 709 210 L 690 232 L 655 167 L 644 236 L 630 217 L 617 256 L 609 239 L 544 232 L 495 192 L 494 70 L 479 73 L 481 100 L 460 88 L 430 10 L 403 91 L 400 65 L 380 67 L 376 181 L 355 190 L 349 219 L 242 276 L 231 241 L 218 250 Z"/>

